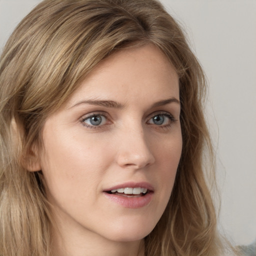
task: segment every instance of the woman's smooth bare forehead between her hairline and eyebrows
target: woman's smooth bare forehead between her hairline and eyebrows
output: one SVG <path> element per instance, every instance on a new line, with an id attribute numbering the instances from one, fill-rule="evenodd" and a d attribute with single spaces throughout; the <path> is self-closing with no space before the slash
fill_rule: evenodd
<path id="1" fill-rule="evenodd" d="M 81 82 L 68 105 L 83 97 L 127 100 L 152 95 L 178 99 L 178 75 L 167 57 L 148 44 L 122 49 L 102 60 Z"/>

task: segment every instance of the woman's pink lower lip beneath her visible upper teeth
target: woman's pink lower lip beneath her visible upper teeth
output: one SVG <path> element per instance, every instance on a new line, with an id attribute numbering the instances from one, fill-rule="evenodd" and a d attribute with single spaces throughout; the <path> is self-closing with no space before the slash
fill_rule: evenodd
<path id="1" fill-rule="evenodd" d="M 125 208 L 141 208 L 146 206 L 151 200 L 153 192 L 147 192 L 145 195 L 138 197 L 126 197 L 117 194 L 109 194 L 107 192 L 103 193 L 109 200 L 125 207 Z"/>

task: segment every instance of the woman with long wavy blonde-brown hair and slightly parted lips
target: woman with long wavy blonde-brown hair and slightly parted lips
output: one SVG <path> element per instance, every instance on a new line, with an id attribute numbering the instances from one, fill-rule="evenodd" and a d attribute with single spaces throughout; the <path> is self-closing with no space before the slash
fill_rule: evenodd
<path id="1" fill-rule="evenodd" d="M 157 1 L 38 4 L 0 59 L 0 254 L 220 255 L 204 91 Z"/>

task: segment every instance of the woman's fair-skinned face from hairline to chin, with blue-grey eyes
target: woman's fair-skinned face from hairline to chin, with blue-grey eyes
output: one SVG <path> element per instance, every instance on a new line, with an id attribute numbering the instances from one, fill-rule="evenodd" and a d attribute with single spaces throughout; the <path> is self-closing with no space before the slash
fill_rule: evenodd
<path id="1" fill-rule="evenodd" d="M 39 167 L 57 225 L 115 241 L 146 236 L 173 187 L 179 112 L 177 74 L 156 47 L 98 64 L 42 130 Z"/>

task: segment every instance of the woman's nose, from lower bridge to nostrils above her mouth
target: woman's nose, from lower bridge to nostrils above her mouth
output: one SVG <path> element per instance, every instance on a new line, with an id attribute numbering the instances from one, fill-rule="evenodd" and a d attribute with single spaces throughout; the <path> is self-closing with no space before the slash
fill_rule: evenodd
<path id="1" fill-rule="evenodd" d="M 154 163 L 150 143 L 142 129 L 126 130 L 118 143 L 117 163 L 122 168 L 141 169 Z"/>

